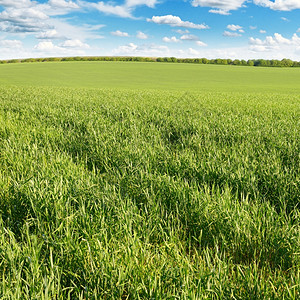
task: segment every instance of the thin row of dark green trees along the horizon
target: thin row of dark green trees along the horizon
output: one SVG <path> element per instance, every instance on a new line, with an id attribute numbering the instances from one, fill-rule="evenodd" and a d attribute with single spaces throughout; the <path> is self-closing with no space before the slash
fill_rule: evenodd
<path id="1" fill-rule="evenodd" d="M 255 67 L 300 67 L 299 61 L 290 59 L 207 59 L 207 58 L 176 58 L 176 57 L 130 57 L 130 56 L 75 56 L 75 57 L 47 57 L 0 60 L 0 64 L 30 63 L 30 62 L 58 62 L 58 61 L 137 61 L 137 62 L 166 62 L 166 63 L 192 63 Z"/>

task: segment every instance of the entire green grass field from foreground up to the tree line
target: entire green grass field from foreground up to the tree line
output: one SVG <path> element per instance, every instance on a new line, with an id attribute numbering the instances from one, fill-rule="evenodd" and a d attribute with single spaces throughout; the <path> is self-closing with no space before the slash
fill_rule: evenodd
<path id="1" fill-rule="evenodd" d="M 299 82 L 0 65 L 0 298 L 299 299 Z"/>

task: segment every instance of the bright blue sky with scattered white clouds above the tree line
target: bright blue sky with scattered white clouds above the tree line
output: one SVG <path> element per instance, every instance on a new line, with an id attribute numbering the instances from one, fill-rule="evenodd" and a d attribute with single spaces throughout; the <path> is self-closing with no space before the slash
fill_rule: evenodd
<path id="1" fill-rule="evenodd" d="M 300 61 L 300 0 L 0 0 L 0 59 Z"/>

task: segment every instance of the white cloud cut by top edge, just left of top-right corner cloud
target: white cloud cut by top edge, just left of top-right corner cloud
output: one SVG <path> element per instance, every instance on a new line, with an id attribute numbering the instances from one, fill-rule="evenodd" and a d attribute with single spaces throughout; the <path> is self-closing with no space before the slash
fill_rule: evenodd
<path id="1" fill-rule="evenodd" d="M 192 6 L 212 7 L 211 13 L 228 15 L 230 10 L 236 10 L 243 6 L 245 0 L 193 0 Z"/>

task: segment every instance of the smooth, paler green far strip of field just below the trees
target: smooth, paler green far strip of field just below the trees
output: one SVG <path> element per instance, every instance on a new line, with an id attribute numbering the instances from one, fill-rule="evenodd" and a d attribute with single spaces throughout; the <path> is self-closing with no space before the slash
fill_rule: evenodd
<path id="1" fill-rule="evenodd" d="M 300 93 L 300 71 L 217 65 L 58 62 L 0 65 L 0 84 Z"/>

